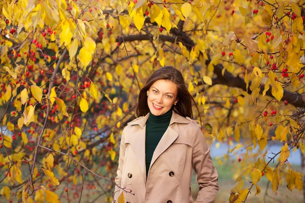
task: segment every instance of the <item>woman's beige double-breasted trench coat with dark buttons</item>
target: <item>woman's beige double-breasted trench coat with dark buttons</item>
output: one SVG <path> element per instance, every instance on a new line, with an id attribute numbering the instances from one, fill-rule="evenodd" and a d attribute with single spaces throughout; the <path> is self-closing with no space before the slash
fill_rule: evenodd
<path id="1" fill-rule="evenodd" d="M 197 203 L 214 202 L 218 173 L 198 121 L 174 111 L 149 166 L 146 181 L 145 128 L 149 114 L 128 123 L 121 136 L 114 202 L 124 192 L 130 203 L 191 203 L 192 168 L 197 173 Z"/>

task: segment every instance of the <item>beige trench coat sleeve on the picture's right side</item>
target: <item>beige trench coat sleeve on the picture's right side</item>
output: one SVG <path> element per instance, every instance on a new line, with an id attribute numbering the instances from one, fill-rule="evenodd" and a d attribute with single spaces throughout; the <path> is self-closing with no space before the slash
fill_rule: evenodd
<path id="1" fill-rule="evenodd" d="M 199 192 L 194 203 L 212 203 L 215 201 L 219 190 L 218 173 L 213 165 L 208 148 L 200 126 L 194 134 L 194 145 L 192 154 L 192 165 L 197 173 Z"/>

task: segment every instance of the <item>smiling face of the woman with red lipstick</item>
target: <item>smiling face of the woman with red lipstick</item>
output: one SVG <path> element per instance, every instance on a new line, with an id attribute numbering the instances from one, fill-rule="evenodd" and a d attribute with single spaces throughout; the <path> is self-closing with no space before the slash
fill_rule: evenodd
<path id="1" fill-rule="evenodd" d="M 169 80 L 157 80 L 147 90 L 147 104 L 150 112 L 160 116 L 168 112 L 177 103 L 177 85 Z"/>

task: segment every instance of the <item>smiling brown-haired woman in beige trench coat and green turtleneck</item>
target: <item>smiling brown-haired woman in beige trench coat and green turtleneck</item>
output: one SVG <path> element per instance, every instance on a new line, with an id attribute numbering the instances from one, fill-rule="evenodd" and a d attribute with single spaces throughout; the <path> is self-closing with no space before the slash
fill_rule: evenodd
<path id="1" fill-rule="evenodd" d="M 139 93 L 139 117 L 121 136 L 114 202 L 121 193 L 130 203 L 193 202 L 192 168 L 200 188 L 195 202 L 215 201 L 218 173 L 193 120 L 192 102 L 199 111 L 174 67 L 161 67 L 150 76 Z"/>

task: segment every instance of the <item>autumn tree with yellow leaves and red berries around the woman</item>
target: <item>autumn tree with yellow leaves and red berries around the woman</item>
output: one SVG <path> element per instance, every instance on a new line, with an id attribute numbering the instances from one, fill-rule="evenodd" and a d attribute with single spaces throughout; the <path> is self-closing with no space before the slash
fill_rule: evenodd
<path id="1" fill-rule="evenodd" d="M 58 202 L 54 191 L 72 181 L 81 188 L 73 196 L 81 199 L 86 181 L 114 183 L 121 130 L 135 118 L 143 83 L 164 65 L 184 74 L 208 142 L 249 141 L 239 146 L 261 149 L 236 157 L 249 167 L 240 165 L 231 202 L 246 201 L 254 185 L 259 194 L 264 175 L 273 192 L 285 178 L 289 190 L 303 188 L 287 161 L 293 148 L 305 150 L 303 1 L 0 5 L 1 194 L 7 200 L 16 189 L 23 202 Z M 267 152 L 276 141 L 282 150 Z"/>

